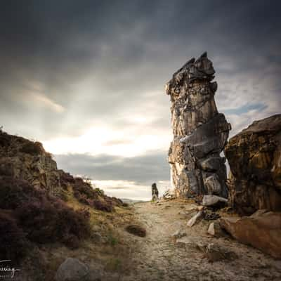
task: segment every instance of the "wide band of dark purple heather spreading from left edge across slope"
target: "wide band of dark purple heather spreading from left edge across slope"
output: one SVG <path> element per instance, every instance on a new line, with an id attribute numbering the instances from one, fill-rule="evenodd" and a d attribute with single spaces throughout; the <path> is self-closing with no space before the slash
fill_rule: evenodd
<path id="1" fill-rule="evenodd" d="M 62 200 L 45 190 L 35 189 L 26 181 L 0 177 L 0 208 L 11 210 L 15 226 L 22 228 L 32 242 L 63 242 L 77 247 L 79 240 L 90 233 L 86 210 L 74 211 Z M 11 235 L 11 239 L 17 237 Z"/>

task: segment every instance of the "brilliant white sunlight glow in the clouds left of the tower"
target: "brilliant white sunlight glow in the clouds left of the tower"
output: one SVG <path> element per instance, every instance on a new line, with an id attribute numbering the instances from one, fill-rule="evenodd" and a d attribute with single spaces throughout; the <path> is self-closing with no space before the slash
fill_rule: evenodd
<path id="1" fill-rule="evenodd" d="M 142 123 L 145 119 L 141 120 Z M 121 141 L 120 141 L 121 140 Z M 153 150 L 169 148 L 171 133 L 169 130 L 150 131 L 145 128 L 117 131 L 110 127 L 92 127 L 84 134 L 73 138 L 55 138 L 43 141 L 44 148 L 53 154 L 89 154 L 89 155 L 115 155 L 122 157 L 136 157 Z"/>

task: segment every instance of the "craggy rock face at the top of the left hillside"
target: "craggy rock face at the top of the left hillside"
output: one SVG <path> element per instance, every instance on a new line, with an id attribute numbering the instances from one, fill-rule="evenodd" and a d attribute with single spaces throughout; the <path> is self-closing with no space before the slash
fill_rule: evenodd
<path id="1" fill-rule="evenodd" d="M 61 189 L 60 176 L 51 154 L 39 142 L 28 141 L 19 136 L 0 132 L 0 171 L 1 174 L 20 178 L 35 188 L 44 188 L 52 195 Z"/>

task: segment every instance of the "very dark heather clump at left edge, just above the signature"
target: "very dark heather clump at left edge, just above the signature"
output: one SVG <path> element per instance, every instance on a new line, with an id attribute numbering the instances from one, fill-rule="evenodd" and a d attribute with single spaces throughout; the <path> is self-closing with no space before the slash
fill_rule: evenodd
<path id="1" fill-rule="evenodd" d="M 27 249 L 25 233 L 18 227 L 14 218 L 0 212 L 0 260 L 19 261 Z"/>

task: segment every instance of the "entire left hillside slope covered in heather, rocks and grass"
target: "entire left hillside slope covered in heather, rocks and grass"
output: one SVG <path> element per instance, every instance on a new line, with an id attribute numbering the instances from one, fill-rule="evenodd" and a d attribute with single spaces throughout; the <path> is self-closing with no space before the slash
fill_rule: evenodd
<path id="1" fill-rule="evenodd" d="M 18 280 L 53 280 L 67 256 L 84 251 L 105 266 L 128 251 L 113 226 L 126 212 L 121 200 L 58 169 L 41 143 L 0 131 L 0 260 L 21 268 Z"/>

